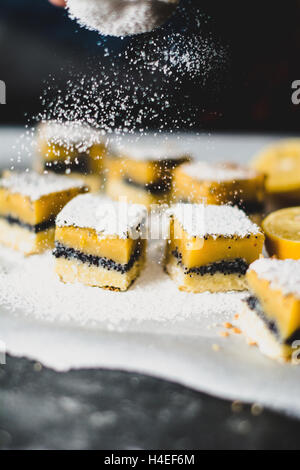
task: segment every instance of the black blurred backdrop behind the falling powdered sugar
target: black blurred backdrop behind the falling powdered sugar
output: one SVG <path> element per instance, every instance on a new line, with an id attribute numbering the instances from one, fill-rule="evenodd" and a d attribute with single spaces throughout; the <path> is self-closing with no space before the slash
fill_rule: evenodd
<path id="1" fill-rule="evenodd" d="M 102 66 L 108 77 L 114 74 L 120 83 L 124 74 L 129 82 L 139 82 L 141 75 L 136 67 L 128 66 L 125 52 L 130 58 L 140 57 L 145 50 L 149 58 L 154 57 L 149 39 L 167 48 L 174 33 L 187 41 L 208 38 L 217 49 L 225 48 L 226 63 L 214 63 L 210 51 L 205 52 L 212 71 L 208 74 L 203 67 L 192 78 L 174 71 L 176 87 L 175 81 L 162 77 L 160 69 L 152 75 L 142 73 L 141 83 L 150 90 L 148 95 L 156 86 L 171 103 L 167 110 L 157 103 L 156 113 L 146 116 L 143 126 L 158 128 L 163 120 L 166 128 L 174 128 L 177 119 L 179 128 L 298 131 L 300 107 L 291 103 L 291 83 L 300 79 L 300 2 L 296 0 L 182 0 L 164 28 L 125 40 L 80 29 L 63 9 L 47 0 L 1 0 L 0 79 L 7 84 L 8 104 L 0 106 L 0 123 L 23 123 L 25 113 L 31 116 L 41 110 L 39 97 L 49 74 L 52 84 L 62 90 L 70 75 L 97 77 Z M 51 94 L 55 96 L 55 89 Z"/>

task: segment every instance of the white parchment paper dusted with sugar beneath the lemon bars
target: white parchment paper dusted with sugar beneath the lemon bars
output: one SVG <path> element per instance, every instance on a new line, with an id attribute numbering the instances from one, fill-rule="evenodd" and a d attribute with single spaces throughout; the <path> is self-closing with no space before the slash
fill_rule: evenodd
<path id="1" fill-rule="evenodd" d="M 7 143 L 16 135 L 11 131 Z M 188 136 L 185 143 L 202 158 L 246 161 L 270 140 Z M 5 158 L 9 156 L 7 151 Z M 4 163 L 5 158 L 2 156 Z M 242 294 L 181 293 L 163 273 L 154 255 L 128 295 L 98 289 L 97 299 L 93 297 L 95 307 L 85 311 L 84 296 L 88 298 L 88 294 L 83 293 L 81 304 L 74 302 L 71 309 L 74 286 L 64 286 L 65 293 L 58 286 L 57 299 L 65 295 L 66 303 L 61 302 L 57 308 L 58 302 L 51 299 L 58 283 L 51 259 L 45 255 L 39 261 L 44 266 L 44 277 L 39 276 L 40 279 L 36 259 L 33 257 L 24 264 L 21 258 L 10 258 L 6 251 L 0 251 L 0 271 L 5 279 L 2 286 L 0 281 L 0 344 L 7 352 L 59 371 L 80 367 L 138 371 L 223 398 L 258 402 L 300 416 L 300 366 L 265 358 L 255 347 L 248 346 L 241 335 L 228 338 L 219 335 L 224 330 L 223 322 L 231 321 L 239 309 Z M 23 279 L 26 277 L 23 285 L 22 273 Z M 31 284 L 28 273 L 32 276 Z M 46 282 L 51 287 L 48 293 L 43 289 L 41 300 L 40 289 Z M 26 286 L 29 289 L 30 285 L 36 289 L 36 295 L 26 293 Z M 13 302 L 3 300 L 8 289 Z M 215 350 L 215 345 L 219 350 Z"/>

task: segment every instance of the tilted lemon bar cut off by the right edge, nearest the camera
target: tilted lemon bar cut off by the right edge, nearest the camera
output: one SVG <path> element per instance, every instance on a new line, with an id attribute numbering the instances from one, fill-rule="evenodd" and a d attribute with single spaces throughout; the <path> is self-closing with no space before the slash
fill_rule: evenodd
<path id="1" fill-rule="evenodd" d="M 263 354 L 290 358 L 293 345 L 300 346 L 300 261 L 262 258 L 246 278 L 250 295 L 238 316 L 241 330 Z"/>

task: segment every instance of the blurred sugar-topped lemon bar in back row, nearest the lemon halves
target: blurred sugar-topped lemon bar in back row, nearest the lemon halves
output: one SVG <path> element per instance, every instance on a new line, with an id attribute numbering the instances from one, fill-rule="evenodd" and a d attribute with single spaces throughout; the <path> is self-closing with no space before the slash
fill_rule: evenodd
<path id="1" fill-rule="evenodd" d="M 174 172 L 172 200 L 231 203 L 257 212 L 262 209 L 264 180 L 262 173 L 233 163 L 187 163 Z"/>

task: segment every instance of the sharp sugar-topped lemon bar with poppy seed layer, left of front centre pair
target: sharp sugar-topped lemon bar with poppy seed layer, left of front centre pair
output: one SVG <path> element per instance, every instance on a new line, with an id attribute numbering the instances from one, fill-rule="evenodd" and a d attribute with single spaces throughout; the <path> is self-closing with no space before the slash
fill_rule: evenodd
<path id="1" fill-rule="evenodd" d="M 145 261 L 147 210 L 87 194 L 56 220 L 55 271 L 63 282 L 125 291 Z"/>

